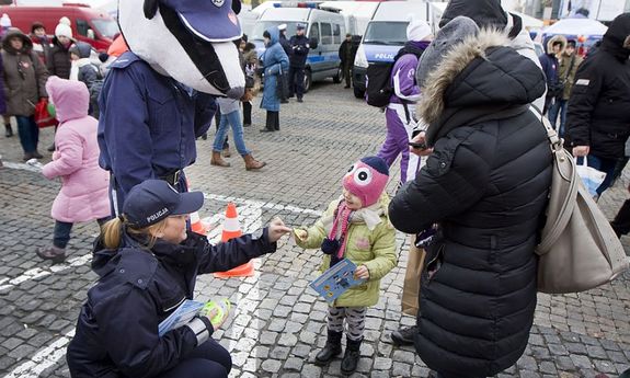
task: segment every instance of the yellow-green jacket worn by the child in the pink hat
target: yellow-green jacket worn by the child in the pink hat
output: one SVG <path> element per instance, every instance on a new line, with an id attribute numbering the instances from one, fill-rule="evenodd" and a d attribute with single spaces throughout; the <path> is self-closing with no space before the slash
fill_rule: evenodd
<path id="1" fill-rule="evenodd" d="M 296 239 L 296 243 L 303 249 L 319 249 L 323 239 L 328 237 L 324 229 L 324 219 L 332 217 L 337 208 L 339 199 L 333 201 L 323 216 L 310 227 L 308 239 L 305 241 Z M 396 229 L 389 221 L 387 209 L 389 197 L 383 194 L 379 201 L 383 210 L 381 222 L 374 230 L 369 230 L 365 222 L 352 222 L 348 227 L 346 238 L 345 259 L 348 259 L 357 266 L 365 265 L 369 271 L 369 279 L 363 285 L 350 288 L 342 294 L 331 306 L 333 307 L 369 307 L 378 302 L 380 290 L 380 278 L 389 273 L 397 264 L 396 254 Z M 330 255 L 323 256 L 320 271 L 324 272 L 330 267 Z"/>

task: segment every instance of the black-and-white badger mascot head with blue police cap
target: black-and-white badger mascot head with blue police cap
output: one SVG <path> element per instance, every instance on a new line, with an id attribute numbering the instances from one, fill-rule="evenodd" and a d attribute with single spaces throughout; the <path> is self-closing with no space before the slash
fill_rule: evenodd
<path id="1" fill-rule="evenodd" d="M 158 72 L 205 93 L 239 99 L 245 79 L 233 41 L 240 0 L 118 0 L 129 49 Z"/>

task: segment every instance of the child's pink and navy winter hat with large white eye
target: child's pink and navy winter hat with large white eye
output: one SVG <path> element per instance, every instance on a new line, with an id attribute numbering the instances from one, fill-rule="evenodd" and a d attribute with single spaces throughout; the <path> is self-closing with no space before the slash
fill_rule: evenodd
<path id="1" fill-rule="evenodd" d="M 389 169 L 379 157 L 366 157 L 354 163 L 343 176 L 343 187 L 357 196 L 364 207 L 378 202 L 387 181 Z"/>

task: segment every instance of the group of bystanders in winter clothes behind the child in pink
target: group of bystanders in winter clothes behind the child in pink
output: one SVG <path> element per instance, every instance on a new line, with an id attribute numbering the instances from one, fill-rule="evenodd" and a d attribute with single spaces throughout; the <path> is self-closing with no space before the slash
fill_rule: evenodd
<path id="1" fill-rule="evenodd" d="M 61 18 L 50 38 L 44 24 L 33 22 L 31 33 L 10 26 L 3 14 L 2 64 L 0 69 L 0 112 L 4 121 L 4 136 L 13 136 L 11 117 L 18 125 L 18 135 L 24 151 L 24 161 L 42 159 L 39 128 L 35 119 L 37 104 L 48 101 L 46 82 L 49 77 L 82 81 L 92 94 L 89 114 L 99 116 L 98 94 L 102 85 L 102 64 L 110 58 L 98 56 L 99 65 L 91 60 L 92 47 L 72 38 L 68 18 Z M 55 151 L 55 145 L 47 147 Z"/>

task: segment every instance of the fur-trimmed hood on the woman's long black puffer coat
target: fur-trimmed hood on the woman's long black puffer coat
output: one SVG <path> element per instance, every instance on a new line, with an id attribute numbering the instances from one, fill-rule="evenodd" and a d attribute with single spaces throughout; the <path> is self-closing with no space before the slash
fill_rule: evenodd
<path id="1" fill-rule="evenodd" d="M 454 45 L 431 71 L 417 107 L 429 125 L 429 146 L 458 126 L 519 113 L 545 93 L 540 68 L 509 43 L 503 32 L 482 30 Z"/>

